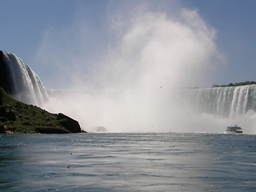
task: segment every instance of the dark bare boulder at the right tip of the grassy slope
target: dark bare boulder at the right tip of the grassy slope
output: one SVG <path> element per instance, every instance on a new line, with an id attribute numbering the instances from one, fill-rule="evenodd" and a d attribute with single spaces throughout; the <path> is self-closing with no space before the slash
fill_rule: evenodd
<path id="1" fill-rule="evenodd" d="M 60 113 L 57 115 L 57 120 L 59 121 L 60 125 L 62 125 L 66 130 L 69 130 L 71 133 L 81 133 L 79 123 L 73 118 Z"/>

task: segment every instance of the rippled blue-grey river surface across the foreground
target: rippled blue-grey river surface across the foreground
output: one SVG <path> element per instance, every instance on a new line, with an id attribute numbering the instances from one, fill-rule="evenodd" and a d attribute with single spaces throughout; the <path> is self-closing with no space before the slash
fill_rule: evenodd
<path id="1" fill-rule="evenodd" d="M 256 136 L 0 135 L 0 191 L 256 191 Z"/>

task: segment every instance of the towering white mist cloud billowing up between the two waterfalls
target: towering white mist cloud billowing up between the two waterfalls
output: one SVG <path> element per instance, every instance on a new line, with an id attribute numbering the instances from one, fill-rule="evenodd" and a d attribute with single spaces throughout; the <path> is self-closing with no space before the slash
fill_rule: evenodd
<path id="1" fill-rule="evenodd" d="M 214 42 L 215 30 L 197 10 L 174 15 L 148 6 L 133 10 L 125 20 L 115 12 L 108 15 L 106 31 L 115 35 L 104 35 L 113 40 L 109 43 L 90 39 L 94 35 L 85 22 L 76 22 L 58 37 L 54 30 L 46 33 L 38 61 L 52 65 L 53 81 L 62 79 L 64 88 L 83 92 L 58 95 L 45 107 L 77 118 L 89 131 L 94 126 L 112 132 L 181 131 L 206 123 L 190 114 L 177 92 L 209 85 L 218 71 L 222 54 Z M 99 44 L 91 46 L 94 40 Z"/>

